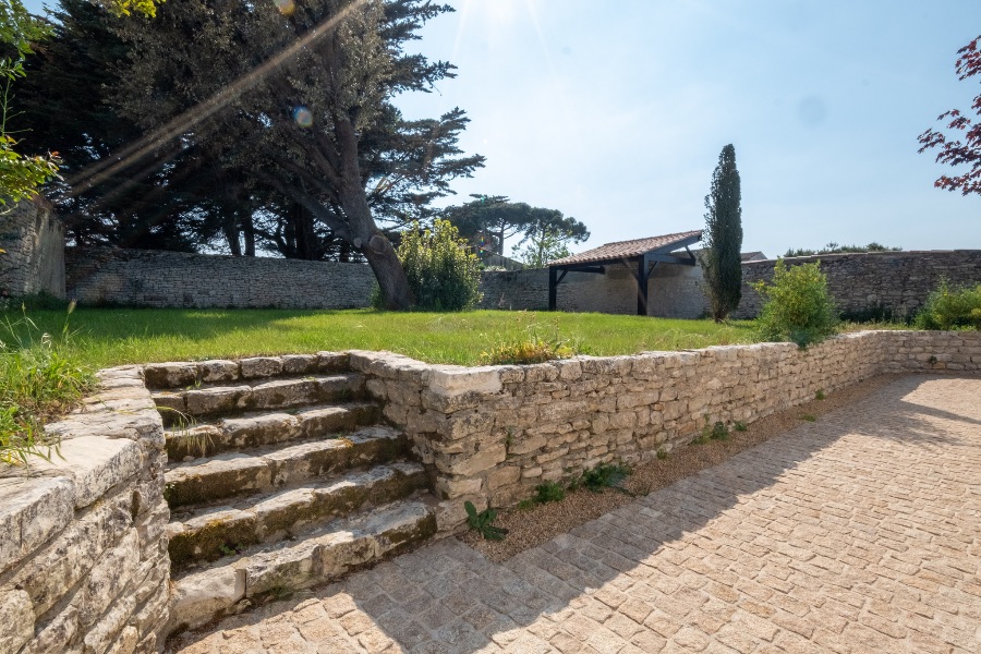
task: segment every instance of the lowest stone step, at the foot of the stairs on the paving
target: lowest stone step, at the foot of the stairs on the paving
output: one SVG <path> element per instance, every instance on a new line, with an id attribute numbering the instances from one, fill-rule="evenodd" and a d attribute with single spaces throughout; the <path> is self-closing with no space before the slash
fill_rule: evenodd
<path id="1" fill-rule="evenodd" d="M 420 494 L 177 574 L 171 625 L 194 629 L 237 613 L 245 601 L 318 585 L 421 543 L 436 533 L 436 504 Z"/>

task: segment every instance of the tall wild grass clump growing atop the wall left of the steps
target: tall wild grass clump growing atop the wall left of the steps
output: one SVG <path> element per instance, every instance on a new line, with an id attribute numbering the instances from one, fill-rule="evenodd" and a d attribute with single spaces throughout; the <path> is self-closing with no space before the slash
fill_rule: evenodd
<path id="1" fill-rule="evenodd" d="M 68 317 L 57 337 L 41 332 L 24 311 L 0 323 L 0 462 L 50 459 L 58 443 L 45 435 L 45 423 L 94 388 L 92 372 L 66 353 L 70 338 Z"/>

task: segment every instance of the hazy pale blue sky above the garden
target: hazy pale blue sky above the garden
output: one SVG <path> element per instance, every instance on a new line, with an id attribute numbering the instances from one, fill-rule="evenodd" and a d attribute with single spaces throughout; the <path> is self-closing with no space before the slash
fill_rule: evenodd
<path id="1" fill-rule="evenodd" d="M 559 209 L 592 231 L 573 252 L 699 229 L 731 143 L 743 251 L 981 249 L 981 198 L 934 189 L 954 169 L 917 153 L 981 93 L 954 70 L 978 0 L 445 1 L 411 47 L 457 77 L 397 104 L 468 112 L 487 162 L 447 204 Z"/>

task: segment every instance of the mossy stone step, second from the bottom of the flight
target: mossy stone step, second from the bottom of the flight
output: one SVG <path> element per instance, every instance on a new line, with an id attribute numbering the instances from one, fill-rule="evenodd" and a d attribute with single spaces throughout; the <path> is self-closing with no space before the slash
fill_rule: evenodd
<path id="1" fill-rule="evenodd" d="M 422 465 L 390 463 L 222 506 L 174 511 L 168 525 L 171 565 L 181 569 L 230 550 L 281 541 L 312 524 L 407 497 L 427 482 Z"/>

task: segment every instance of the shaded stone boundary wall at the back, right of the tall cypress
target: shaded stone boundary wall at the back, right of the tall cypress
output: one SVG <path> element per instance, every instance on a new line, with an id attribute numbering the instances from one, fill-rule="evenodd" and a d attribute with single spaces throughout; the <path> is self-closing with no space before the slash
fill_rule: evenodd
<path id="1" fill-rule="evenodd" d="M 955 284 L 981 283 L 981 250 L 821 254 L 784 261 L 788 266 L 820 261 L 838 310 L 852 314 L 888 310 L 912 316 L 942 277 Z M 759 315 L 760 294 L 749 284 L 772 280 L 774 265 L 774 259 L 742 264 L 742 300 L 732 317 Z"/>

